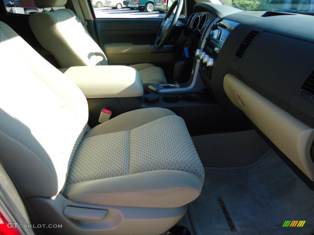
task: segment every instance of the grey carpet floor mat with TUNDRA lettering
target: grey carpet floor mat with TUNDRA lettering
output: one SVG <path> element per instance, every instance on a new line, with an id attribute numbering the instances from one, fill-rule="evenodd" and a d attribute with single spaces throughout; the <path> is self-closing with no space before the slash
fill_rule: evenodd
<path id="1" fill-rule="evenodd" d="M 189 205 L 197 235 L 314 234 L 314 191 L 272 150 L 246 167 L 205 168 L 205 177 L 201 195 Z M 306 222 L 282 227 L 285 221 Z"/>

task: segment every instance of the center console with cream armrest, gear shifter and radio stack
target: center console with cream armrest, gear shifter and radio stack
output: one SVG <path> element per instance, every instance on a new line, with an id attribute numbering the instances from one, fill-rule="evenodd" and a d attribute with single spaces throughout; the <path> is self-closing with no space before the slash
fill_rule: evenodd
<path id="1" fill-rule="evenodd" d="M 139 73 L 127 66 L 79 66 L 66 70 L 64 74 L 87 98 L 89 126 L 99 124 L 103 108 L 111 110 L 113 118 L 135 109 L 161 107 L 182 117 L 191 135 L 243 130 L 244 124 L 230 118 L 204 84 L 210 79 L 221 46 L 237 24 L 219 21 L 220 18 L 206 14 L 203 27 L 198 25 L 194 29 L 197 40 L 190 50 L 190 60 L 176 60 L 173 84 L 154 84 L 143 91 Z M 198 50 L 194 56 L 195 49 Z M 192 67 L 190 78 L 181 82 L 187 66 Z"/>

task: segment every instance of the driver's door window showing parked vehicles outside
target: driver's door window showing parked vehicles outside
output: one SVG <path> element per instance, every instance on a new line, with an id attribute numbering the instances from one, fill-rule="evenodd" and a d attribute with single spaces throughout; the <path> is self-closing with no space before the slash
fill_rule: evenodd
<path id="1" fill-rule="evenodd" d="M 168 1 L 168 9 L 172 2 Z M 96 18 L 164 18 L 167 0 L 91 0 Z"/>

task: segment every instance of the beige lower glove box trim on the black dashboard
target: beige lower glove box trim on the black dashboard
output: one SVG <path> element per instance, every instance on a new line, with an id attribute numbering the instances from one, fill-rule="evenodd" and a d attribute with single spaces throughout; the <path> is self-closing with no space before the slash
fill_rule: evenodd
<path id="1" fill-rule="evenodd" d="M 300 170 L 314 180 L 311 144 L 314 129 L 300 122 L 231 74 L 224 78 L 231 102 L 275 144 Z"/>

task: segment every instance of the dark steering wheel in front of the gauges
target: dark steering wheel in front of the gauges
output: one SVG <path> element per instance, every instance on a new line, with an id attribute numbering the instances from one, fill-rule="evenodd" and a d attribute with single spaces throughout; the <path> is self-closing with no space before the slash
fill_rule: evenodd
<path id="1" fill-rule="evenodd" d="M 176 13 L 174 14 L 174 16 L 172 16 L 171 13 L 176 7 L 177 7 Z M 154 48 L 156 50 L 160 50 L 165 45 L 169 37 L 171 36 L 176 23 L 178 23 L 178 19 L 179 19 L 182 7 L 183 7 L 183 0 L 176 0 L 174 3 L 172 3 L 169 11 L 167 12 L 158 30 L 158 34 L 157 34 L 157 37 L 155 39 L 155 44 L 154 44 Z"/>

